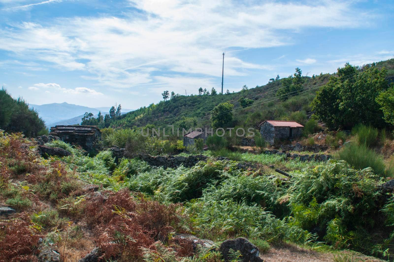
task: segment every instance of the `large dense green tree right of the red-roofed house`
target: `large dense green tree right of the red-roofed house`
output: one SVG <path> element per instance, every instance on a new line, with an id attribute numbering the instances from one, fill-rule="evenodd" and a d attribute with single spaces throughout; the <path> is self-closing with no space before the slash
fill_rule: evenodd
<path id="1" fill-rule="evenodd" d="M 311 108 L 331 129 L 349 129 L 358 123 L 383 127 L 384 115 L 376 98 L 387 88 L 386 73 L 385 68 L 359 71 L 346 63 L 338 68 L 338 77 L 331 77 L 316 92 Z"/>

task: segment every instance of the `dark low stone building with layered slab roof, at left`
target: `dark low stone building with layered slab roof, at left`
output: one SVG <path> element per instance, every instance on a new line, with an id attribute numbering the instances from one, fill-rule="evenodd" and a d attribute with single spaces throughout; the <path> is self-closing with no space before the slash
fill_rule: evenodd
<path id="1" fill-rule="evenodd" d="M 56 125 L 50 128 L 49 135 L 80 145 L 86 151 L 95 149 L 96 142 L 101 139 L 100 129 L 95 125 Z"/>

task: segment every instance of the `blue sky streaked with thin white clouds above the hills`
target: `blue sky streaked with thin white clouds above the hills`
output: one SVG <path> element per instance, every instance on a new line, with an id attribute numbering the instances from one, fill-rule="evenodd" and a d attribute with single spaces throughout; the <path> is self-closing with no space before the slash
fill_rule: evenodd
<path id="1" fill-rule="evenodd" d="M 0 83 L 32 104 L 137 109 L 394 55 L 387 1 L 0 0 Z"/>

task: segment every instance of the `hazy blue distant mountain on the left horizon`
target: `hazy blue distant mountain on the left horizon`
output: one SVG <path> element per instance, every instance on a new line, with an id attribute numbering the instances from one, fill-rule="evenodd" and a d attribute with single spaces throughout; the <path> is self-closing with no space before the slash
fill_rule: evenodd
<path id="1" fill-rule="evenodd" d="M 73 105 L 69 103 L 52 103 L 44 105 L 29 105 L 30 108 L 37 110 L 39 116 L 45 121 L 46 127 L 54 125 L 60 125 L 58 123 L 64 123 L 63 125 L 80 124 L 81 118 L 85 112 L 93 113 L 97 115 L 99 111 L 109 112 L 110 107 L 84 107 L 81 105 Z M 129 112 L 129 109 L 122 109 L 122 112 Z M 66 124 L 68 123 L 68 124 Z"/>

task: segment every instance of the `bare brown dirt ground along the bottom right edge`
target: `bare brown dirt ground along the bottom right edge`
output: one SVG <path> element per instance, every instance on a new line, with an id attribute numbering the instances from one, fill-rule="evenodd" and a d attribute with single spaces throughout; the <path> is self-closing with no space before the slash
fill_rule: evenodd
<path id="1" fill-rule="evenodd" d="M 382 262 L 371 256 L 360 253 L 341 251 L 337 253 L 319 252 L 297 247 L 296 245 L 280 244 L 268 252 L 261 254 L 260 258 L 266 262 Z"/>

